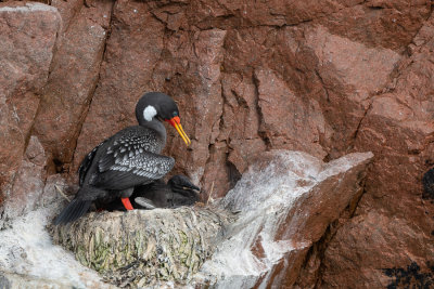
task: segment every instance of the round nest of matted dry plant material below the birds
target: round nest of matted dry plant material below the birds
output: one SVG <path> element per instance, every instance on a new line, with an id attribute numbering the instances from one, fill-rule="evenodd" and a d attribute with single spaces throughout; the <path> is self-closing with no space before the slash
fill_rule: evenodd
<path id="1" fill-rule="evenodd" d="M 55 244 L 119 287 L 187 284 L 224 238 L 234 216 L 217 208 L 92 212 L 53 226 Z"/>

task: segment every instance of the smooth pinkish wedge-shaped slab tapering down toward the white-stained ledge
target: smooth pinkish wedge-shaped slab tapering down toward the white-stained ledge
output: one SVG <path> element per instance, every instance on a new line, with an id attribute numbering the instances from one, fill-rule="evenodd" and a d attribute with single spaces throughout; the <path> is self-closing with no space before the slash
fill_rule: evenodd
<path id="1" fill-rule="evenodd" d="M 369 97 L 386 87 L 400 56 L 388 49 L 371 49 L 333 36 L 322 27 L 307 30 L 306 45 L 318 57 L 318 76 L 327 91 L 320 106 L 333 129 L 322 145 L 330 147 L 329 158 L 335 158 L 352 148 Z"/>

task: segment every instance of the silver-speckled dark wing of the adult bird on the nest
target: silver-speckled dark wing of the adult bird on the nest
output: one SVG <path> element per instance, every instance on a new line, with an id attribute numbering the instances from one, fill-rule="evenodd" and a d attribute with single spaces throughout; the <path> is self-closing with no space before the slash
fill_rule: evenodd
<path id="1" fill-rule="evenodd" d="M 144 136 L 120 137 L 106 148 L 98 162 L 93 185 L 124 189 L 163 178 L 175 165 L 171 157 L 146 152 Z"/>

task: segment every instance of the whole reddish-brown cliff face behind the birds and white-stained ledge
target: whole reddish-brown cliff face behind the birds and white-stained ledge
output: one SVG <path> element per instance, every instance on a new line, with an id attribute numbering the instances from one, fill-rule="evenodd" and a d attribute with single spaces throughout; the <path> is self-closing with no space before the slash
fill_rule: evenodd
<path id="1" fill-rule="evenodd" d="M 46 156 L 35 184 L 74 179 L 82 156 L 136 122 L 143 92 L 163 91 L 192 139 L 186 150 L 168 129 L 174 173 L 213 198 L 273 148 L 326 161 L 374 154 L 361 199 L 309 249 L 296 286 L 411 286 L 398 272 L 427 283 L 433 31 L 427 0 L 1 3 L 1 200 L 26 201 L 12 188 L 35 137 Z"/>

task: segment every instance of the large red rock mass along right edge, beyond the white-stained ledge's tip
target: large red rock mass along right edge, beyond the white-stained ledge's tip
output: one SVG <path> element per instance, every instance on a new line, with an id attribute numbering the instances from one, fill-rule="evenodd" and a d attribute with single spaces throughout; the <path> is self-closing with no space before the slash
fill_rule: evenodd
<path id="1" fill-rule="evenodd" d="M 373 98 L 360 124 L 355 149 L 372 150 L 376 157 L 356 216 L 337 229 L 324 251 L 321 287 L 386 287 L 397 277 L 387 272 L 407 272 L 412 265 L 427 279 L 411 279 L 413 270 L 399 286 L 422 286 L 432 279 L 427 262 L 434 252 L 434 207 L 421 199 L 422 173 L 434 153 L 432 25 L 433 18 L 414 38 L 418 45 L 394 89 Z"/>

